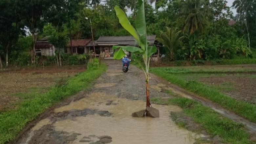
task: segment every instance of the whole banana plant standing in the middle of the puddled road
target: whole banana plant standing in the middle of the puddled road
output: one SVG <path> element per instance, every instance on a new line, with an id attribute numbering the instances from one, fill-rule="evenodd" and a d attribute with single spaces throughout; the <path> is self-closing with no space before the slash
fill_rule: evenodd
<path id="1" fill-rule="evenodd" d="M 114 54 L 114 59 L 121 59 L 125 56 L 124 50 L 130 51 L 133 60 L 142 68 L 146 78 L 146 107 L 149 107 L 149 61 L 150 56 L 157 51 L 157 48 L 156 46 L 149 46 L 149 41 L 147 41 L 144 2 L 143 0 L 139 0 L 138 2 L 139 11 L 135 20 L 135 28 L 131 25 L 123 10 L 117 6 L 115 6 L 115 10 L 119 23 L 134 37 L 140 48 L 133 46 L 113 46 L 113 50 L 119 48 L 119 50 Z"/>

